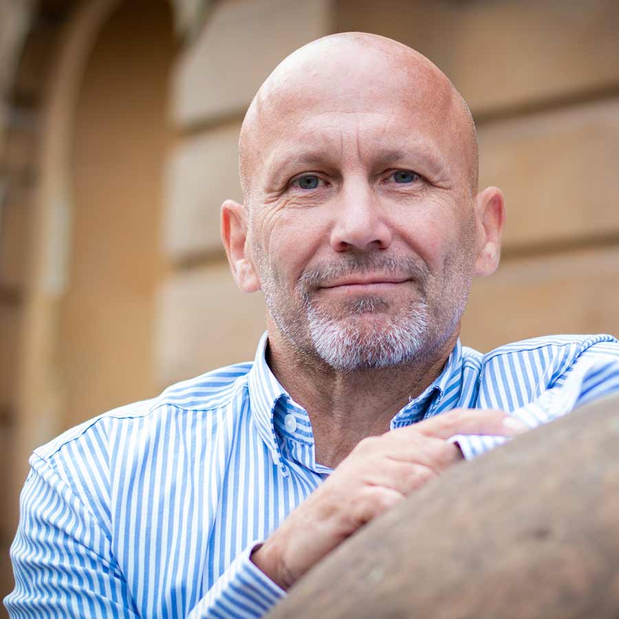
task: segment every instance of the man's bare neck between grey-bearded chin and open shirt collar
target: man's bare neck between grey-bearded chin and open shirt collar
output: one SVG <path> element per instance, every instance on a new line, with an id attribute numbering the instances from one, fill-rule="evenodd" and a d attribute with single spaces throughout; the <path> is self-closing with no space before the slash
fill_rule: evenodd
<path id="1" fill-rule="evenodd" d="M 310 416 L 316 461 L 334 468 L 361 439 L 389 431 L 393 416 L 439 376 L 458 334 L 456 329 L 435 354 L 420 360 L 340 372 L 269 329 L 267 360 L 277 380 Z"/>

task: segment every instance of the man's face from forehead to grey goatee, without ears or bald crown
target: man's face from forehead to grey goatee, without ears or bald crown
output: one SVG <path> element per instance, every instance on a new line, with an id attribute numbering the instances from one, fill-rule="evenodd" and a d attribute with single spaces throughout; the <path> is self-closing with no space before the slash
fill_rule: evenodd
<path id="1" fill-rule="evenodd" d="M 451 93 L 371 69 L 372 83 L 362 66 L 308 74 L 318 85 L 279 100 L 251 170 L 270 338 L 340 371 L 433 354 L 458 328 L 476 254 Z"/>

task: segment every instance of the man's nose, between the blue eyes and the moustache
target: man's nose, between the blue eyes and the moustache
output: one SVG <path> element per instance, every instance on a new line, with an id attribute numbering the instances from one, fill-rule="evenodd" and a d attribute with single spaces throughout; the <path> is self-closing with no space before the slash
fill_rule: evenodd
<path id="1" fill-rule="evenodd" d="M 365 251 L 386 249 L 390 244 L 391 229 L 370 184 L 365 179 L 345 184 L 334 205 L 332 248 L 336 252 Z"/>

